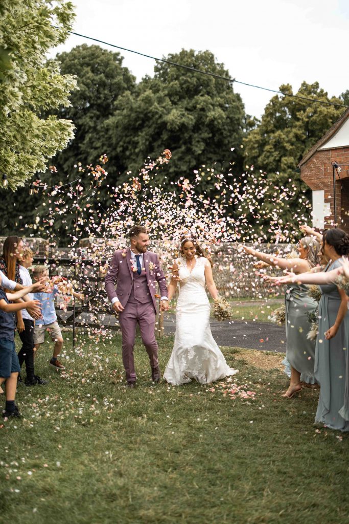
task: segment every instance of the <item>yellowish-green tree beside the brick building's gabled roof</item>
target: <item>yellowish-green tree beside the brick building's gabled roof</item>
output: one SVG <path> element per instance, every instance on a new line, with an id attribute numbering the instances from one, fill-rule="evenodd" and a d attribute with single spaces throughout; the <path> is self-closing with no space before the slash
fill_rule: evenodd
<path id="1" fill-rule="evenodd" d="M 289 84 L 281 85 L 280 91 L 292 94 Z M 330 99 L 318 82 L 303 82 L 297 95 L 335 104 L 343 103 L 343 100 L 334 96 Z M 286 220 L 291 220 L 299 195 L 308 190 L 296 171 L 298 162 L 343 111 L 344 107 L 276 95 L 266 105 L 261 121 L 246 136 L 245 163 L 265 171 L 269 180 L 280 188 L 295 186 L 294 202 L 289 202 L 285 209 Z"/>

